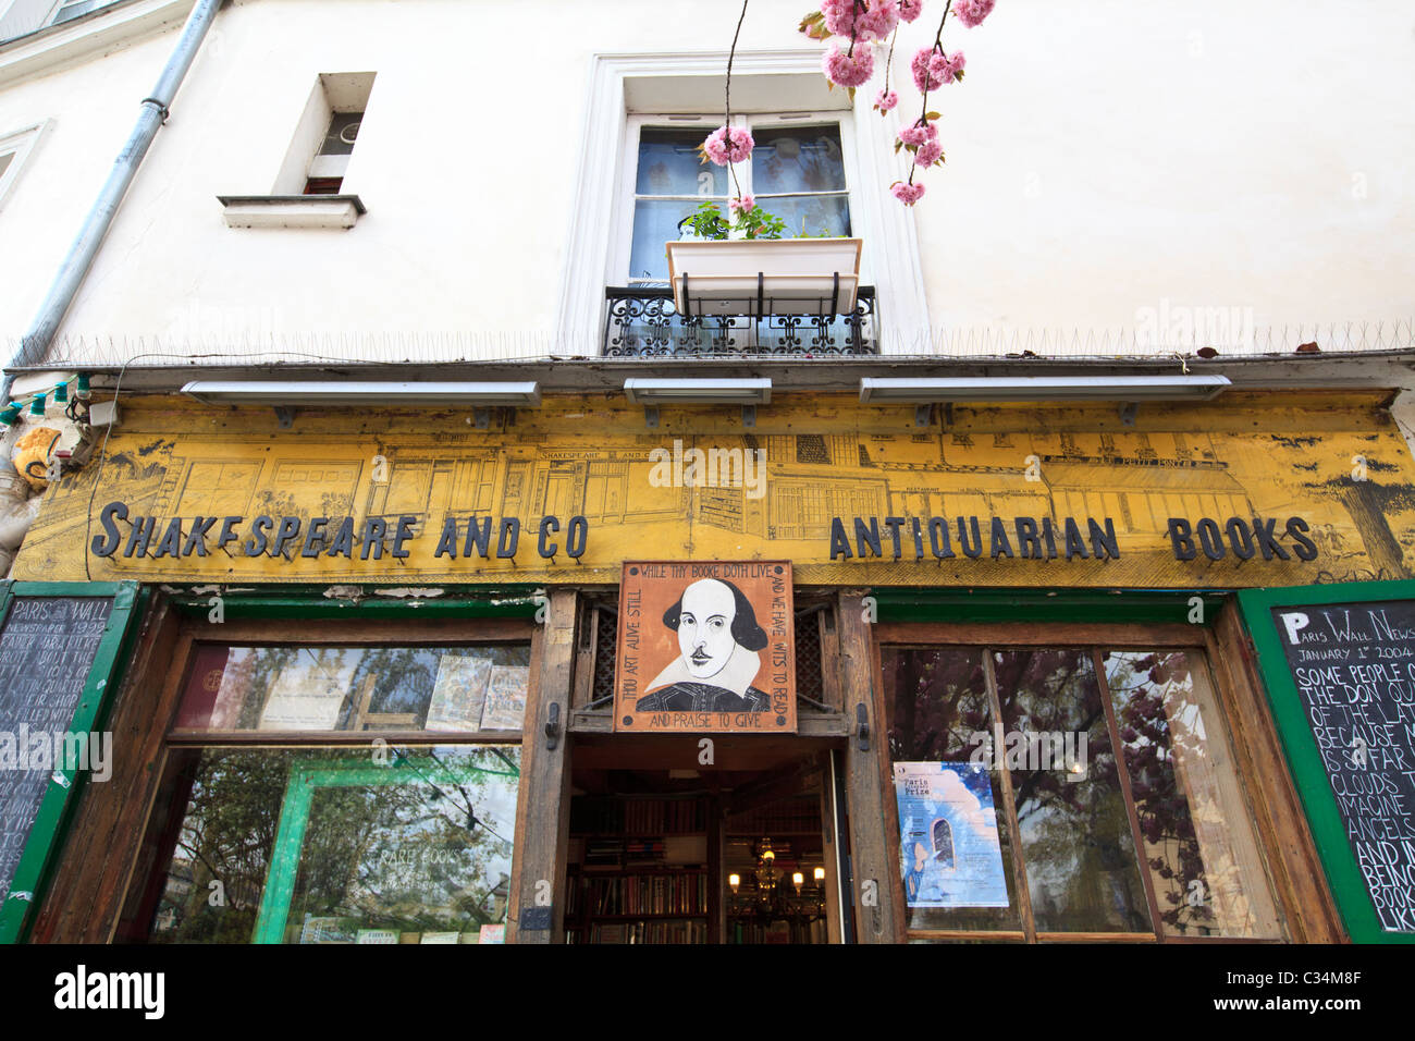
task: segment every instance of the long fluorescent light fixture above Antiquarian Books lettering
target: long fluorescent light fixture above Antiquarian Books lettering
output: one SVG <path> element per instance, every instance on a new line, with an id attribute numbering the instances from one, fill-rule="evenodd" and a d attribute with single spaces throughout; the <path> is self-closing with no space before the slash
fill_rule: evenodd
<path id="1" fill-rule="evenodd" d="M 1230 385 L 1225 375 L 865 377 L 860 401 L 1208 401 Z"/>

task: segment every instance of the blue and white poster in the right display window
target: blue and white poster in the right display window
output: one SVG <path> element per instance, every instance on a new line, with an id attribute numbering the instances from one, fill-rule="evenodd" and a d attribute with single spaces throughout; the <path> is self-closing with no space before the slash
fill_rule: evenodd
<path id="1" fill-rule="evenodd" d="M 897 762 L 894 796 L 908 906 L 1007 906 L 998 813 L 983 763 Z"/>

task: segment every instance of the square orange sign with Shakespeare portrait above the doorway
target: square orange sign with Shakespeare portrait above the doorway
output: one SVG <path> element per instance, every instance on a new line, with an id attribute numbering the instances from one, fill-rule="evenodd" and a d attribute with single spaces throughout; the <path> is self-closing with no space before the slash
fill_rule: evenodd
<path id="1" fill-rule="evenodd" d="M 794 734 L 790 561 L 635 561 L 620 585 L 614 729 Z"/>

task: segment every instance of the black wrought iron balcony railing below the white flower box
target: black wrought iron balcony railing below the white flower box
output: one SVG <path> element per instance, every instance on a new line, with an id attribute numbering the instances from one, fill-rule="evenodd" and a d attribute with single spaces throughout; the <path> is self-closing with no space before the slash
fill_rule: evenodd
<path id="1" fill-rule="evenodd" d="M 674 354 L 791 354 L 831 357 L 879 354 L 874 288 L 860 286 L 849 314 L 766 314 L 682 317 L 668 286 L 610 286 L 604 290 L 604 357 Z"/>

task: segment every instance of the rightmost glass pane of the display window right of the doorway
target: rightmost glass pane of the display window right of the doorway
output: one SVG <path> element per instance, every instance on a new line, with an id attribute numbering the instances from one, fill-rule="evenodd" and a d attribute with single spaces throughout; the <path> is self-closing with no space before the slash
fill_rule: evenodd
<path id="1" fill-rule="evenodd" d="M 1102 660 L 1165 933 L 1278 936 L 1207 678 L 1183 650 Z"/>

